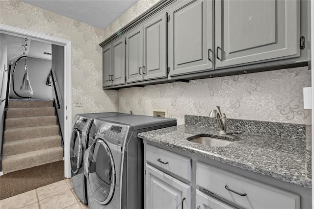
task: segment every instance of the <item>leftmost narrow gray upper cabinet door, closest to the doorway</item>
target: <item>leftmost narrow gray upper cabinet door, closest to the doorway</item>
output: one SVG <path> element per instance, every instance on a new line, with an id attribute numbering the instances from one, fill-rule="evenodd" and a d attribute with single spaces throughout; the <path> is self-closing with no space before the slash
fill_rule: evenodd
<path id="1" fill-rule="evenodd" d="M 111 86 L 112 48 L 111 44 L 103 49 L 103 87 Z"/>

